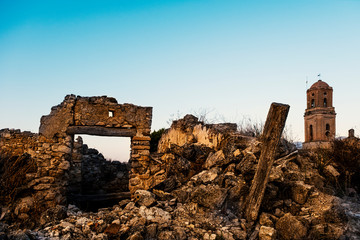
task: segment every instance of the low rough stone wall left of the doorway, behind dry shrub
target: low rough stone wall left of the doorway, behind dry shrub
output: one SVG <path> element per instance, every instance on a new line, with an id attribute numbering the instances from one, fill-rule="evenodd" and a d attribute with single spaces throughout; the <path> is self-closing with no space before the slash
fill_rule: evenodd
<path id="1" fill-rule="evenodd" d="M 28 154 L 35 164 L 33 171 L 26 173 L 25 184 L 14 189 L 17 196 L 12 204 L 18 206 L 16 217 L 26 220 L 34 208 L 41 212 L 66 201 L 70 153 L 68 137 L 48 139 L 20 130 L 0 130 L 1 160 Z"/>

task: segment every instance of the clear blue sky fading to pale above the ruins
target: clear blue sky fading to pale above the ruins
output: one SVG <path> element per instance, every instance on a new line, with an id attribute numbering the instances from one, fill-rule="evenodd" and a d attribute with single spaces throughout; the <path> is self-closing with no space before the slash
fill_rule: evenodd
<path id="1" fill-rule="evenodd" d="M 0 0 L 0 128 L 38 132 L 70 93 L 152 106 L 152 129 L 201 109 L 261 121 L 276 101 L 302 141 L 321 73 L 337 135 L 358 134 L 359 13 L 360 0 Z"/>

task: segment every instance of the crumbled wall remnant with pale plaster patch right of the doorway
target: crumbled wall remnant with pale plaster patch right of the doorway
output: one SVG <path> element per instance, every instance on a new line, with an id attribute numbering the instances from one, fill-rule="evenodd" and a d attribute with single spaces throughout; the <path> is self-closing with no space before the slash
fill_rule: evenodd
<path id="1" fill-rule="evenodd" d="M 217 161 L 230 161 L 224 158 L 224 154 L 229 154 L 225 151 L 236 149 L 226 146 L 246 146 L 252 141 L 255 139 L 237 133 L 236 124 L 204 124 L 195 116 L 186 115 L 162 135 L 157 153 L 151 155 L 146 186 L 170 191 Z"/>

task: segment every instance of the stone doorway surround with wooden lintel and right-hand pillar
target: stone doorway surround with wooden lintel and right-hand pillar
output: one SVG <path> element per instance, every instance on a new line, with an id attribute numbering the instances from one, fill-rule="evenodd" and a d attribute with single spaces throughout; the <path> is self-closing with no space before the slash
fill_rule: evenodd
<path id="1" fill-rule="evenodd" d="M 118 104 L 115 98 L 106 96 L 67 95 L 60 105 L 52 108 L 50 115 L 41 118 L 39 133 L 47 138 L 70 136 L 73 139 L 75 134 L 130 137 L 129 189 L 133 193 L 149 187 L 151 119 L 151 107 Z M 81 162 L 81 153 L 72 147 L 70 174 L 78 183 L 81 181 Z M 79 189 L 74 191 L 79 192 Z"/>

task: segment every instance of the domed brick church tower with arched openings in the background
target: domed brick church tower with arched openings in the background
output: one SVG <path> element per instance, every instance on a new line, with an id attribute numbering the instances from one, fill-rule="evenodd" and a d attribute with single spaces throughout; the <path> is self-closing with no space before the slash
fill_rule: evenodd
<path id="1" fill-rule="evenodd" d="M 307 91 L 305 110 L 304 149 L 330 147 L 335 139 L 335 108 L 333 107 L 333 89 L 321 80 Z"/>

